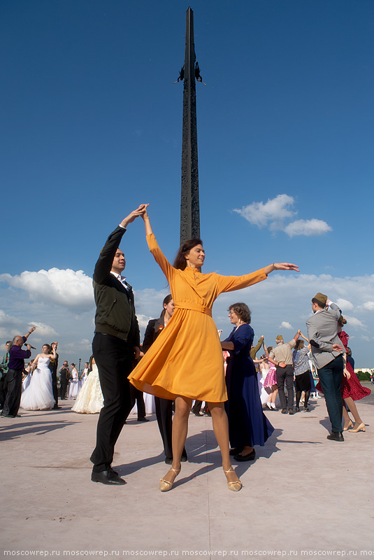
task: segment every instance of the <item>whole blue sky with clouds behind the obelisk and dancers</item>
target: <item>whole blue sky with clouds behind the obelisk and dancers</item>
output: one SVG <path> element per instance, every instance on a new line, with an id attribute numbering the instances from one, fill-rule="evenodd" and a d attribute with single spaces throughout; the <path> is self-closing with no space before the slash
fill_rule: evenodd
<path id="1" fill-rule="evenodd" d="M 256 335 L 305 330 L 327 293 L 348 318 L 358 367 L 374 367 L 372 0 L 196 1 L 201 237 L 205 270 L 274 275 L 244 300 Z M 86 359 L 90 276 L 124 216 L 150 203 L 178 248 L 185 12 L 180 0 L 3 0 L 0 335 Z M 165 280 L 136 221 L 122 242 L 142 325 Z M 45 271 L 45 272 L 39 272 Z M 79 272 L 82 271 L 82 272 Z M 38 332 L 38 334 L 37 334 Z"/>

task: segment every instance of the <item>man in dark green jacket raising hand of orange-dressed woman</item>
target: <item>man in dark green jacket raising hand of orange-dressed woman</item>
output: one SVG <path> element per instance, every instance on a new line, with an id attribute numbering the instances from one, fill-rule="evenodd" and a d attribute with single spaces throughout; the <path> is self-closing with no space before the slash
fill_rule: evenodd
<path id="1" fill-rule="evenodd" d="M 134 359 L 140 354 L 140 333 L 134 294 L 122 272 L 124 253 L 118 248 L 127 225 L 143 214 L 141 204 L 110 234 L 101 249 L 93 276 L 96 303 L 92 351 L 99 370 L 104 405 L 97 423 L 91 479 L 103 484 L 125 484 L 111 468 L 115 442 L 131 410 L 129 379 Z"/>

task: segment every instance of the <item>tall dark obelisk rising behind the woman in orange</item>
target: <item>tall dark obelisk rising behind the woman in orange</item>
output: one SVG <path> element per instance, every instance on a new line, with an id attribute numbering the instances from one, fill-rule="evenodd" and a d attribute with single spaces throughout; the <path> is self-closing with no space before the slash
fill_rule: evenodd
<path id="1" fill-rule="evenodd" d="M 200 237 L 195 61 L 194 12 L 191 8 L 188 8 L 186 13 L 185 84 L 183 90 L 182 188 L 180 197 L 181 244 L 187 239 Z M 197 72 L 197 75 L 199 76 L 199 72 Z"/>

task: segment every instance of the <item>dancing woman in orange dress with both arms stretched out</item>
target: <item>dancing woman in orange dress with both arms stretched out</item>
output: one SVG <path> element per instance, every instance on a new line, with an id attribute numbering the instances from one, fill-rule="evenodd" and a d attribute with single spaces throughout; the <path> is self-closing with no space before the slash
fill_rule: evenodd
<path id="1" fill-rule="evenodd" d="M 205 251 L 201 239 L 183 244 L 174 265 L 164 257 L 153 235 L 145 206 L 143 220 L 148 246 L 168 280 L 175 311 L 135 370 L 131 383 L 141 391 L 175 400 L 173 419 L 173 464 L 159 483 L 161 491 L 171 490 L 180 472 L 180 456 L 185 445 L 192 400 L 206 400 L 213 430 L 222 454 L 222 466 L 229 489 L 238 491 L 241 482 L 229 456 L 229 428 L 224 401 L 227 400 L 224 365 L 212 306 L 223 292 L 240 290 L 265 280 L 273 270 L 296 270 L 289 262 L 274 263 L 244 276 L 202 274 Z M 193 365 L 192 365 L 193 364 Z"/>

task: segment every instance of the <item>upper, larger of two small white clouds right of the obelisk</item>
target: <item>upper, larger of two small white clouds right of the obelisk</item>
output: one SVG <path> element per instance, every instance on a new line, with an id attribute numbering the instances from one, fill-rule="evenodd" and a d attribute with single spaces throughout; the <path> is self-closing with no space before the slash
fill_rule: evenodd
<path id="1" fill-rule="evenodd" d="M 262 228 L 264 225 L 278 223 L 285 218 L 291 218 L 296 214 L 290 209 L 294 204 L 293 197 L 288 195 L 278 195 L 267 202 L 252 202 L 240 209 L 234 209 L 240 216 L 243 216 L 252 225 L 258 225 Z"/>

